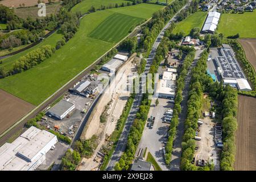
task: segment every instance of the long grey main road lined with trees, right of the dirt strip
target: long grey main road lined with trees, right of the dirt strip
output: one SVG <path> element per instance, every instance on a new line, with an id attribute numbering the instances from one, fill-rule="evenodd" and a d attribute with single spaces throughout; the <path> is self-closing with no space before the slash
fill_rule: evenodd
<path id="1" fill-rule="evenodd" d="M 189 1 L 191 2 L 191 1 Z M 185 7 L 187 6 L 184 6 L 182 9 L 185 9 Z M 181 9 L 181 10 L 182 10 Z M 180 11 L 181 11 L 180 10 Z M 179 11 L 179 12 L 180 12 Z M 178 12 L 178 13 L 179 13 Z M 149 71 L 150 71 L 150 65 L 152 64 L 152 60 L 154 59 L 155 55 L 156 55 L 156 49 L 158 48 L 161 40 L 163 39 L 163 36 L 164 36 L 164 32 L 167 30 L 167 28 L 170 26 L 170 24 L 176 20 L 176 15 L 178 14 L 176 13 L 174 15 L 174 17 L 172 19 L 169 20 L 169 22 L 166 24 L 166 26 L 164 26 L 164 28 L 162 29 L 162 31 L 159 33 L 159 35 L 157 36 L 153 46 L 152 46 L 152 49 L 151 49 L 151 52 L 150 52 L 150 55 L 148 56 L 148 58 L 146 59 L 147 60 L 147 64 L 146 64 L 146 67 L 145 67 L 145 70 L 144 70 L 144 74 L 147 74 Z M 125 147 L 126 147 L 126 143 L 127 143 L 127 137 L 128 137 L 128 134 L 129 134 L 129 131 L 130 131 L 130 127 L 131 125 L 133 124 L 133 121 L 135 119 L 135 116 L 136 116 L 136 113 L 137 111 L 139 110 L 139 105 L 141 104 L 141 100 L 142 100 L 142 94 L 137 94 L 135 96 L 135 99 L 134 99 L 134 103 L 133 103 L 133 106 L 132 106 L 132 109 L 130 111 L 130 114 L 127 118 L 127 121 L 125 123 L 125 127 L 122 131 L 122 134 L 121 134 L 121 137 L 120 139 L 118 140 L 118 143 L 117 143 L 117 147 L 115 148 L 115 151 L 112 155 L 112 158 L 110 159 L 110 162 L 108 164 L 108 167 L 107 167 L 107 170 L 110 171 L 110 170 L 113 170 L 114 166 L 115 166 L 115 163 L 117 161 L 119 161 L 119 159 L 121 158 L 121 155 L 123 154 L 123 152 L 125 151 Z"/>

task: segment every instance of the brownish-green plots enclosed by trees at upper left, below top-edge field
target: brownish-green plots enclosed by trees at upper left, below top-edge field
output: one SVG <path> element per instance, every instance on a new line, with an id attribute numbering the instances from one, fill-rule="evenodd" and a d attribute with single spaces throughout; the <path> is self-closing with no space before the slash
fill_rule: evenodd
<path id="1" fill-rule="evenodd" d="M 52 5 L 46 6 L 46 15 L 57 14 L 60 10 L 60 3 L 55 3 Z M 32 19 L 36 18 L 43 18 L 38 16 L 38 7 L 26 7 L 26 8 L 19 8 L 15 9 L 14 12 L 19 18 L 27 19 L 31 17 Z"/>

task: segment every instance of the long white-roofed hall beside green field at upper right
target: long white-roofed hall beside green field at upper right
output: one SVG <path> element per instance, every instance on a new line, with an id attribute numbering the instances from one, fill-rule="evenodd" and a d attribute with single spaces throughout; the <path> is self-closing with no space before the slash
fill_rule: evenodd
<path id="1" fill-rule="evenodd" d="M 218 24 L 218 20 L 220 19 L 220 13 L 218 13 L 217 11 L 210 11 L 207 19 L 205 20 L 204 23 L 204 27 L 203 27 L 203 32 L 207 32 L 207 33 L 213 33 L 216 28 L 217 28 L 217 24 Z"/>

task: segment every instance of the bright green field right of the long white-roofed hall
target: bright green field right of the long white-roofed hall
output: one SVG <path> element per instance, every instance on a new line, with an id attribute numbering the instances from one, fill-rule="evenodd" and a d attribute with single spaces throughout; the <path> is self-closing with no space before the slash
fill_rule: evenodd
<path id="1" fill-rule="evenodd" d="M 221 14 L 218 32 L 225 37 L 240 34 L 240 38 L 256 38 L 256 11 L 243 14 Z"/>

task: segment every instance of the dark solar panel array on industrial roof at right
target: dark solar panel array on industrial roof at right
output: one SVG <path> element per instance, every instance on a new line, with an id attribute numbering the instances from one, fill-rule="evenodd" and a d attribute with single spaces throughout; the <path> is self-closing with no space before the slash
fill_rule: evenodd
<path id="1" fill-rule="evenodd" d="M 216 57 L 218 66 L 221 68 L 223 79 L 245 78 L 240 65 L 237 63 L 231 49 L 221 49 L 222 56 Z"/>

